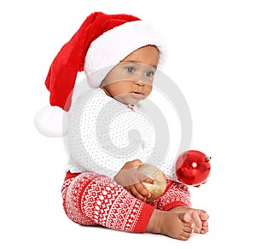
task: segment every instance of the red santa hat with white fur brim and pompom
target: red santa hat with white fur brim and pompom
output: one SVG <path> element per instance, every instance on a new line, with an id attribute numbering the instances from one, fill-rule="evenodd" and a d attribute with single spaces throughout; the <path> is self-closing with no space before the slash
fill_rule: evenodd
<path id="1" fill-rule="evenodd" d="M 97 88 L 109 67 L 146 45 L 155 45 L 160 50 L 159 66 L 163 65 L 166 46 L 148 23 L 130 14 L 90 14 L 49 68 L 45 85 L 49 90 L 50 106 L 37 113 L 35 125 L 38 130 L 46 136 L 64 135 L 63 114 L 71 106 L 78 72 L 84 71 L 90 87 Z M 96 73 L 102 68 L 108 68 L 108 72 Z"/>

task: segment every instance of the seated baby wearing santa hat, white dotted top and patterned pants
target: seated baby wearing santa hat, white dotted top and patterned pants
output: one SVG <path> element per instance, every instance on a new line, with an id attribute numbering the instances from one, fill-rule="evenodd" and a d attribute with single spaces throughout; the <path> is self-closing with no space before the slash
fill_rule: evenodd
<path id="1" fill-rule="evenodd" d="M 99 30 L 101 34 L 96 35 Z M 84 61 L 73 56 L 78 48 L 85 49 L 79 53 L 82 57 L 85 54 Z M 207 233 L 207 212 L 191 207 L 187 186 L 167 177 L 165 193 L 147 201 L 150 193 L 142 182 L 154 184 L 154 179 L 137 172 L 137 167 L 154 152 L 154 127 L 137 104 L 151 93 L 164 52 L 160 36 L 137 17 L 96 12 L 56 56 L 46 82 L 50 91 L 56 67 L 61 65 L 63 81 L 67 82 L 72 74 L 70 68 L 79 68 L 81 63 L 93 87 L 69 111 L 70 160 L 62 197 L 67 217 L 73 222 L 162 234 L 178 240 L 188 240 L 193 232 Z M 74 60 L 68 60 L 70 55 Z M 100 72 L 105 66 L 111 66 L 110 70 Z M 72 90 L 73 85 L 70 91 L 61 88 L 62 93 L 67 91 L 61 98 L 51 91 L 51 104 L 68 111 Z M 131 134 L 127 142 L 131 129 L 139 134 Z"/>

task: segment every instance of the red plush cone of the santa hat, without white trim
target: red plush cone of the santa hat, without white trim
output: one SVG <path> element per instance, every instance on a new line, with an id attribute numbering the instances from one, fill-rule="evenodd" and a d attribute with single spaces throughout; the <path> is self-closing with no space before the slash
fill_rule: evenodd
<path id="1" fill-rule="evenodd" d="M 115 26 L 127 21 L 140 20 L 128 14 L 90 14 L 73 37 L 55 56 L 45 85 L 50 92 L 51 106 L 58 106 L 68 111 L 77 73 L 84 70 L 84 59 L 87 50 L 96 38 Z"/>

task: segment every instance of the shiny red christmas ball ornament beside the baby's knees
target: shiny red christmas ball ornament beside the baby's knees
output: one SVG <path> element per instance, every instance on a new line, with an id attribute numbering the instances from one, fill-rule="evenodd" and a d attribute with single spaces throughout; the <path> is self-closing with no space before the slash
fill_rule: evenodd
<path id="1" fill-rule="evenodd" d="M 185 151 L 177 157 L 176 175 L 180 182 L 187 185 L 199 185 L 210 174 L 211 157 L 198 150 Z"/>

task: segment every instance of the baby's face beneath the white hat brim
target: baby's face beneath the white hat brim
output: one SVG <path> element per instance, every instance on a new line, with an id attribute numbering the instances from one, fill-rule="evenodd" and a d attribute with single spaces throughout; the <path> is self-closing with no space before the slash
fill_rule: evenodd
<path id="1" fill-rule="evenodd" d="M 137 49 L 108 73 L 102 89 L 124 104 L 137 104 L 152 90 L 159 51 L 154 46 Z"/>

